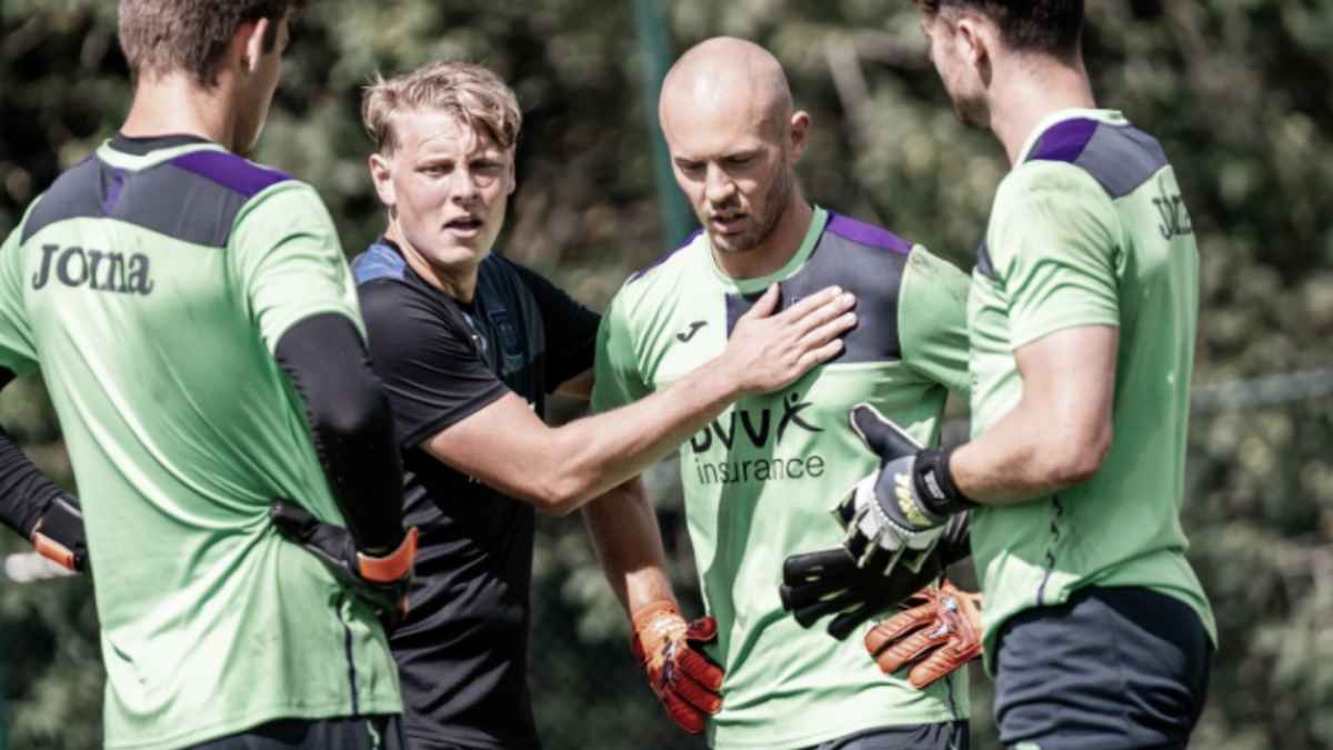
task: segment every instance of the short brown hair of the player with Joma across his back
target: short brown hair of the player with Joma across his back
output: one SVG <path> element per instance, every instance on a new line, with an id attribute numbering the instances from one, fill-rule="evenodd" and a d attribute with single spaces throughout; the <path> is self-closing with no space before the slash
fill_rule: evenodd
<path id="1" fill-rule="evenodd" d="M 217 83 L 217 61 L 248 21 L 268 19 L 264 52 L 277 43 L 279 23 L 305 0 L 120 0 L 120 49 L 135 80 L 185 72 L 204 87 Z"/>

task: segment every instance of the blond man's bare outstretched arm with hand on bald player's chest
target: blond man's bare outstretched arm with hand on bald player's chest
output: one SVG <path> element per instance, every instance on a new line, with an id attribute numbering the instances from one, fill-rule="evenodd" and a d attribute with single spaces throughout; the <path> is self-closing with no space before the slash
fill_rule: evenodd
<path id="1" fill-rule="evenodd" d="M 663 391 L 555 428 L 505 394 L 421 447 L 544 512 L 567 514 L 637 476 L 736 399 L 781 388 L 834 356 L 856 323 L 853 302 L 830 288 L 772 314 L 774 287 L 737 322 L 722 355 Z"/>

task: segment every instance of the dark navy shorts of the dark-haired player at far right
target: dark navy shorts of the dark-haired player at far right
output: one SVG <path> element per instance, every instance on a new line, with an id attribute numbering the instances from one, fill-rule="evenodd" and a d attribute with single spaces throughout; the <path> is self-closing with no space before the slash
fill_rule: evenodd
<path id="1" fill-rule="evenodd" d="M 1058 607 L 1020 613 L 997 643 L 1005 747 L 1185 747 L 1208 697 L 1204 623 L 1146 589 L 1084 589 Z"/>

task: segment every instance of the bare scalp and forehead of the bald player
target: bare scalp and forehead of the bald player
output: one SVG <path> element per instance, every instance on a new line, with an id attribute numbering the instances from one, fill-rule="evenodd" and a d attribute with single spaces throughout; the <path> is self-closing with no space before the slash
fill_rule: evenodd
<path id="1" fill-rule="evenodd" d="M 690 47 L 666 72 L 657 115 L 663 129 L 681 117 L 698 121 L 706 115 L 785 129 L 792 119 L 792 89 L 768 49 L 717 36 Z"/>

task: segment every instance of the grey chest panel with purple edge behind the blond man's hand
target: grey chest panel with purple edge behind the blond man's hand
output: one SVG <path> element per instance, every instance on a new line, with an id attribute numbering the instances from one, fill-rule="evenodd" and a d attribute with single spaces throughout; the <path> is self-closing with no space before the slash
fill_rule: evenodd
<path id="1" fill-rule="evenodd" d="M 837 284 L 856 295 L 857 324 L 842 338 L 842 352 L 830 363 L 902 359 L 898 339 L 898 291 L 912 243 L 893 232 L 829 212 L 829 222 L 800 271 L 778 284 L 778 307 Z M 726 295 L 726 332 L 762 292 Z"/>

